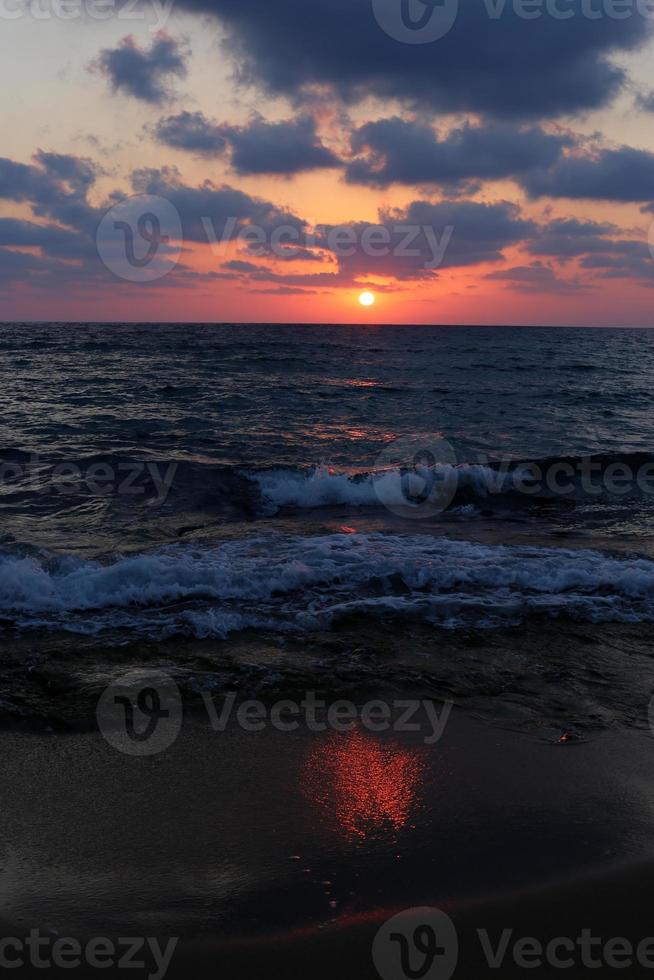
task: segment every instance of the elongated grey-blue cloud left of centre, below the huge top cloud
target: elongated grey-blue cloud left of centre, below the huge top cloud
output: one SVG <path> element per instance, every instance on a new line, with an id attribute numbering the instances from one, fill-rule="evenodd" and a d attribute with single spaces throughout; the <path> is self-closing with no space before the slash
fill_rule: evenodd
<path id="1" fill-rule="evenodd" d="M 154 135 L 160 143 L 205 156 L 220 156 L 231 147 L 232 169 L 251 174 L 302 173 L 340 165 L 320 140 L 310 115 L 269 123 L 255 117 L 247 126 L 218 125 L 201 112 L 181 112 L 162 119 Z"/>

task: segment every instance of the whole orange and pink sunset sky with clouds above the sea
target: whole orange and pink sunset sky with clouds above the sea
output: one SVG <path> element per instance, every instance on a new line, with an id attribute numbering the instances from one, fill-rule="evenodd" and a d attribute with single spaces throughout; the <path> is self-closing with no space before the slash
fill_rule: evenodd
<path id="1" fill-rule="evenodd" d="M 654 326 L 654 0 L 0 20 L 0 320 Z"/>

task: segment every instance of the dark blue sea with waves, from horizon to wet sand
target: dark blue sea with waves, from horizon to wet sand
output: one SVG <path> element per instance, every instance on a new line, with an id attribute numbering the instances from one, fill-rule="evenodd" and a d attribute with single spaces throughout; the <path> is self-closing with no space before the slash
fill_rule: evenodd
<path id="1" fill-rule="evenodd" d="M 8 324 L 0 350 L 7 718 L 153 661 L 189 691 L 392 666 L 541 721 L 571 683 L 580 725 L 646 714 L 654 332 Z"/>

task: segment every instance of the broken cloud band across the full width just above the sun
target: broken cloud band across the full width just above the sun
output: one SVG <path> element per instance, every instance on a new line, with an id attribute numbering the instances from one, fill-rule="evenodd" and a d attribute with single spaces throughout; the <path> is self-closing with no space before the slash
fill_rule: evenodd
<path id="1" fill-rule="evenodd" d="M 73 283 L 81 288 L 116 283 L 99 260 L 95 235 L 106 208 L 124 201 L 125 193 L 114 191 L 102 207 L 91 203 L 102 173 L 86 158 L 42 150 L 30 163 L 0 159 L 0 198 L 32 211 L 31 219 L 0 219 L 3 288 L 9 282 L 53 291 Z M 644 237 L 627 237 L 610 222 L 576 218 L 539 225 L 508 201 L 414 200 L 404 208 L 381 210 L 373 224 L 354 221 L 313 229 L 298 214 L 229 185 L 187 184 L 171 167 L 135 171 L 132 190 L 164 197 L 179 214 L 184 240 L 215 258 L 217 271 L 199 273 L 180 264 L 160 288 L 192 288 L 229 278 L 248 288 L 256 283 L 293 290 L 374 284 L 392 290 L 427 284 L 443 270 L 500 263 L 510 247 L 522 248 L 535 261 L 500 269 L 491 278 L 520 291 L 581 288 L 577 278 L 556 275 L 552 262 L 574 262 L 576 275 L 582 270 L 588 282 L 629 278 L 654 284 L 654 259 Z M 133 206 L 137 211 L 142 206 L 138 197 Z M 227 248 L 233 250 L 237 240 L 240 254 L 234 255 Z M 322 268 L 288 268 L 288 262 L 300 260 L 319 261 Z"/>

